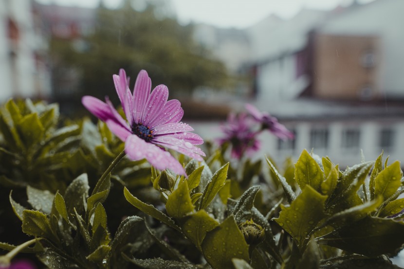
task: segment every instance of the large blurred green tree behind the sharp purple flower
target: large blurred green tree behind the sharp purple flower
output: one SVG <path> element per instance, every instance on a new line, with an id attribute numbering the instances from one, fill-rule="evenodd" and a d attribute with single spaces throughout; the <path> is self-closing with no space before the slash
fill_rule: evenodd
<path id="1" fill-rule="evenodd" d="M 220 89 L 228 85 L 223 63 L 193 41 L 192 25 L 181 26 L 174 18 L 158 16 L 159 7 L 150 2 L 142 12 L 131 2 L 125 0 L 118 9 L 100 4 L 90 36 L 71 42 L 53 38 L 54 88 L 67 88 L 59 99 L 68 96 L 66 91 L 73 99 L 83 94 L 113 96 L 112 74 L 120 68 L 132 77 L 131 87 L 137 73 L 147 70 L 152 86 L 167 85 L 171 98 L 186 96 L 198 86 Z"/>

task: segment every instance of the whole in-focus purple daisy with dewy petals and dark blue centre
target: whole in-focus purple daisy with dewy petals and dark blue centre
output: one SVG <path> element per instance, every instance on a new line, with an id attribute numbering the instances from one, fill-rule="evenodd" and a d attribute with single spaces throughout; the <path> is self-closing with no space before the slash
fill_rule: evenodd
<path id="1" fill-rule="evenodd" d="M 159 170 L 166 168 L 185 175 L 183 166 L 165 148 L 202 161 L 203 151 L 196 147 L 203 143 L 194 129 L 182 122 L 184 110 L 178 100 L 168 99 L 168 89 L 159 85 L 150 93 L 151 80 L 147 72 L 139 72 L 133 95 L 129 90 L 129 78 L 123 69 L 113 75 L 125 121 L 108 98 L 106 103 L 92 96 L 84 96 L 82 103 L 92 114 L 104 121 L 110 130 L 125 141 L 125 152 L 131 160 L 147 159 Z"/>

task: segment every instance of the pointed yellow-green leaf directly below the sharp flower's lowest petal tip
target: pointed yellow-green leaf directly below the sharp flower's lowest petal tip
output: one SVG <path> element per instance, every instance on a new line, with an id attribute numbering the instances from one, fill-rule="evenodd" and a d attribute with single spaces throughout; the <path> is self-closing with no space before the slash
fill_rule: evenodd
<path id="1" fill-rule="evenodd" d="M 168 196 L 165 209 L 167 214 L 174 218 L 183 217 L 194 210 L 187 182 L 180 183 L 178 188 Z"/>

